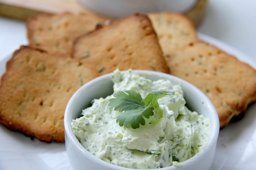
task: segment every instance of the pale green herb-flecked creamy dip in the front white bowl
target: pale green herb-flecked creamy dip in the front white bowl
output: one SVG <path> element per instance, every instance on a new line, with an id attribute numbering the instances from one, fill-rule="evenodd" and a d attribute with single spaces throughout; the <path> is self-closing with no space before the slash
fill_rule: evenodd
<path id="1" fill-rule="evenodd" d="M 96 157 L 117 165 L 135 169 L 179 166 L 179 162 L 203 150 L 209 136 L 209 120 L 190 111 L 179 85 L 169 80 L 151 81 L 132 70 L 112 74 L 114 93 L 133 90 L 145 98 L 153 91 L 169 92 L 158 99 L 154 115 L 145 118 L 137 129 L 119 126 L 116 117 L 122 112 L 110 109 L 113 94 L 94 99 L 82 117 L 73 120 L 72 130 L 80 143 Z"/>

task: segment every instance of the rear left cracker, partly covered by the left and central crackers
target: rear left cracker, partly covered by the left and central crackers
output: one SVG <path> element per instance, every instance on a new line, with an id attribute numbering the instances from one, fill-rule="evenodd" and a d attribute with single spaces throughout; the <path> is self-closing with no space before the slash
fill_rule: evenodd
<path id="1" fill-rule="evenodd" d="M 74 39 L 104 21 L 87 13 L 37 15 L 27 21 L 29 46 L 70 56 Z"/>

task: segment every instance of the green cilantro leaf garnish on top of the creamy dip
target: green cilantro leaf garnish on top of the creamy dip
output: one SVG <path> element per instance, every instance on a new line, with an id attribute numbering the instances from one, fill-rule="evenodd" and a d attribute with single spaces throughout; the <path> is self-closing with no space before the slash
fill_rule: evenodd
<path id="1" fill-rule="evenodd" d="M 119 122 L 119 126 L 129 127 L 131 125 L 132 129 L 136 129 L 140 127 L 140 124 L 145 125 L 144 117 L 148 119 L 154 115 L 153 110 L 159 107 L 157 100 L 167 93 L 151 92 L 142 100 L 141 95 L 133 90 L 119 91 L 114 94 L 115 98 L 109 100 L 108 106 L 119 112 L 124 111 L 117 116 L 116 122 Z"/>

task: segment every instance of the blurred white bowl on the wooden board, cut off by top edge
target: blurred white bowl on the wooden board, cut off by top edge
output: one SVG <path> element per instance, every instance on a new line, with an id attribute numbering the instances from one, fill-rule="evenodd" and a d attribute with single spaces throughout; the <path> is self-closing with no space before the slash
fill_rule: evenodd
<path id="1" fill-rule="evenodd" d="M 191 9 L 197 0 L 78 0 L 78 2 L 104 16 L 119 18 L 138 12 L 185 12 Z"/>

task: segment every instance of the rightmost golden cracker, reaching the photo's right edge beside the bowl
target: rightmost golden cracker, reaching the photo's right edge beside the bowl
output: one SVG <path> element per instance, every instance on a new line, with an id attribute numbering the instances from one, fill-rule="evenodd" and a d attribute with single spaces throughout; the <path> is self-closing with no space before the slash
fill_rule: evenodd
<path id="1" fill-rule="evenodd" d="M 210 98 L 218 112 L 220 128 L 256 100 L 256 71 L 207 43 L 185 47 L 169 58 L 168 65 L 172 75 L 194 84 Z"/>

